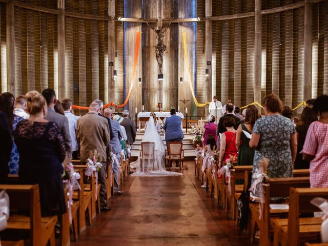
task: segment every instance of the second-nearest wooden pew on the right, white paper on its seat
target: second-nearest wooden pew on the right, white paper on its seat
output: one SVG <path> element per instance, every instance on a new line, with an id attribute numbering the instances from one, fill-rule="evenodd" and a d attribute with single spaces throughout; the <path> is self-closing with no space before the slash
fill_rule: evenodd
<path id="1" fill-rule="evenodd" d="M 270 217 L 274 215 L 282 215 L 288 213 L 288 210 L 276 210 L 270 208 L 271 197 L 288 197 L 289 189 L 292 187 L 304 188 L 310 187 L 309 177 L 293 177 L 293 178 L 269 178 L 267 186 L 264 188 L 264 204 L 262 219 L 259 219 L 259 203 L 250 203 L 251 218 L 251 243 L 254 240 L 255 224 L 260 230 L 259 245 L 270 245 Z"/>

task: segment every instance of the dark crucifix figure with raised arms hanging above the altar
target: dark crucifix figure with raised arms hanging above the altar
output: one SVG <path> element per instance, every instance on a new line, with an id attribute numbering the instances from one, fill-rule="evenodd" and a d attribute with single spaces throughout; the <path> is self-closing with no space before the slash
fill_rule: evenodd
<path id="1" fill-rule="evenodd" d="M 164 44 L 164 36 L 166 31 L 168 30 L 168 27 L 170 24 L 173 22 L 174 18 L 171 19 L 169 23 L 163 23 L 162 25 L 157 25 L 158 28 L 155 29 L 152 27 L 147 20 L 145 19 L 145 22 L 147 23 L 148 26 L 156 33 L 156 39 L 157 39 L 157 44 L 156 44 L 156 60 L 157 64 L 159 67 L 159 72 L 162 73 L 162 67 L 163 67 L 163 53 L 166 51 L 166 45 Z"/>

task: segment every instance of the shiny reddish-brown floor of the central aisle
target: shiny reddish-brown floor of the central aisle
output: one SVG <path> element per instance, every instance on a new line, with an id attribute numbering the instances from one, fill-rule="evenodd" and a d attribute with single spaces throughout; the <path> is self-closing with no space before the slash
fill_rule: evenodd
<path id="1" fill-rule="evenodd" d="M 130 176 L 124 195 L 110 199 L 112 210 L 72 245 L 231 245 L 201 198 L 208 192 L 194 187 L 192 163 L 179 177 Z"/>

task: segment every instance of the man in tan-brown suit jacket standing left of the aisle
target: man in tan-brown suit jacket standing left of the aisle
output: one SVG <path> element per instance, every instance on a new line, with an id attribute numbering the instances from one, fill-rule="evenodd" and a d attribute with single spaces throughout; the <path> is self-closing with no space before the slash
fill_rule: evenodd
<path id="1" fill-rule="evenodd" d="M 93 155 L 94 150 L 98 152 L 100 162 L 103 165 L 98 175 L 98 181 L 101 186 L 100 207 L 102 210 L 110 210 L 111 208 L 107 206 L 106 197 L 106 148 L 110 141 L 110 134 L 108 121 L 105 117 L 98 115 L 99 110 L 99 104 L 92 103 L 89 106 L 89 112 L 78 118 L 76 138 L 80 146 L 82 162 L 87 162 L 88 158 Z"/>

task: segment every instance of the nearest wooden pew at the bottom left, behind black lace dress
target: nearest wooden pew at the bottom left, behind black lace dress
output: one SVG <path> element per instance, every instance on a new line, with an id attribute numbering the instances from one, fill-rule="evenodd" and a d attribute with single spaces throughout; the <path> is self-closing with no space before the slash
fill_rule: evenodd
<path id="1" fill-rule="evenodd" d="M 0 185 L 0 190 L 6 190 L 10 199 L 8 230 L 30 231 L 33 246 L 44 246 L 48 241 L 55 246 L 57 216 L 41 217 L 38 185 Z M 22 212 L 28 212 L 29 216 L 21 215 Z"/>

